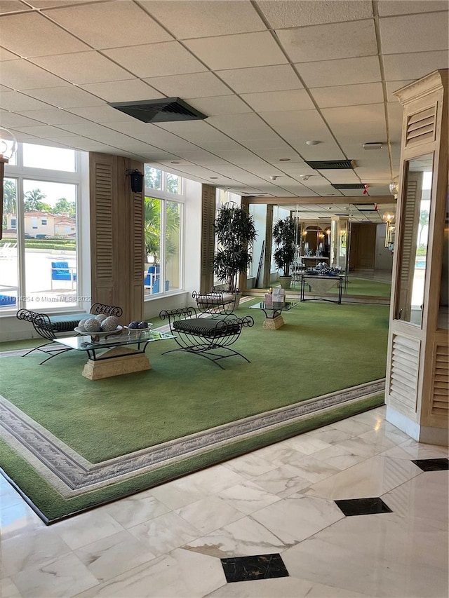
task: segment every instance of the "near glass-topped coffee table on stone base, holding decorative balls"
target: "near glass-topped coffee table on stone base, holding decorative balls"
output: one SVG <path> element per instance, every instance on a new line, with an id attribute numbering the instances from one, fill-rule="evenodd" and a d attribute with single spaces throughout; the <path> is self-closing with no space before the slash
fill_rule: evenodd
<path id="1" fill-rule="evenodd" d="M 98 340 L 86 335 L 62 337 L 55 339 L 55 342 L 86 353 L 88 361 L 84 366 L 83 376 L 89 380 L 100 380 L 151 369 L 145 355 L 148 344 L 174 338 L 173 334 L 157 330 L 133 329 L 128 333 L 123 329 L 121 334 L 110 334 Z"/>

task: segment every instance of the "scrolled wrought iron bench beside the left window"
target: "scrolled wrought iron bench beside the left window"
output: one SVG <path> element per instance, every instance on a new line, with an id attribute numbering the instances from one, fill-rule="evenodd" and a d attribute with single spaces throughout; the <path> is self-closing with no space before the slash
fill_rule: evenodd
<path id="1" fill-rule="evenodd" d="M 84 320 L 84 318 L 89 318 L 93 315 L 98 315 L 99 313 L 105 313 L 106 315 L 116 315 L 117 318 L 120 318 L 123 310 L 121 307 L 105 305 L 101 303 L 92 304 L 91 310 L 88 313 L 69 313 L 67 315 L 48 315 L 46 313 L 39 313 L 37 311 L 30 311 L 28 309 L 20 309 L 16 314 L 16 317 L 19 320 L 31 322 L 37 334 L 47 341 L 46 343 L 39 345 L 39 347 L 32 348 L 30 351 L 25 353 L 23 357 L 29 355 L 29 353 L 32 353 L 33 351 L 41 351 L 42 353 L 46 353 L 46 355 L 49 355 L 49 357 L 41 361 L 40 365 L 42 365 L 52 357 L 55 357 L 55 355 L 64 353 L 65 351 L 70 351 L 69 347 L 58 345 L 52 348 L 51 345 L 54 344 L 55 339 L 57 339 L 59 335 L 67 334 L 67 332 L 73 332 L 74 328 L 79 325 L 81 320 Z"/>

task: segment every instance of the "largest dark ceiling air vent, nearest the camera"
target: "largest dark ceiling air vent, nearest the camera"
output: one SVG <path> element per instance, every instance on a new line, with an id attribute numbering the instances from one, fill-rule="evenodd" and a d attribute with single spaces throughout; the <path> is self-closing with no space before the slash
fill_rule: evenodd
<path id="1" fill-rule="evenodd" d="M 138 118 L 143 123 L 201 121 L 207 118 L 206 114 L 192 108 L 179 97 L 163 97 L 161 100 L 140 100 L 139 102 L 108 102 L 108 104 L 133 118 Z"/>

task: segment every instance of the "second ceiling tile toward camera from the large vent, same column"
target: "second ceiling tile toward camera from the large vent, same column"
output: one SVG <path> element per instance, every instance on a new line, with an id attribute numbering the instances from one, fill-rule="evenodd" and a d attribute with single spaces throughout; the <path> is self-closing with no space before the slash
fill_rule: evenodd
<path id="1" fill-rule="evenodd" d="M 125 69 L 94 51 L 41 56 L 31 62 L 76 85 L 133 79 Z"/>

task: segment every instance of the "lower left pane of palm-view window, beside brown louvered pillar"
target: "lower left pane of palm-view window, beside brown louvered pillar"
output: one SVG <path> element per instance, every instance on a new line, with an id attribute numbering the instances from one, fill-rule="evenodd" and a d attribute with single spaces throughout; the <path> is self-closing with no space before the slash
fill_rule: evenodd
<path id="1" fill-rule="evenodd" d="M 161 204 L 160 199 L 145 197 L 145 296 L 161 292 Z"/>

